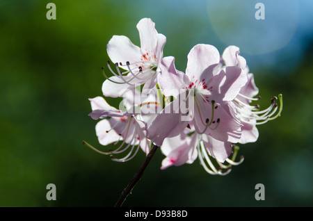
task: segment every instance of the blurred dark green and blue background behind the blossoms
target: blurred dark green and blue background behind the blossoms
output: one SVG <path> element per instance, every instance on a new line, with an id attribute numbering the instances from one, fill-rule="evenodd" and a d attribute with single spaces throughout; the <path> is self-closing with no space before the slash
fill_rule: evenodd
<path id="1" fill-rule="evenodd" d="M 48 20 L 47 3 L 56 4 Z M 255 19 L 255 3 L 265 20 Z M 167 37 L 164 56 L 186 68 L 198 43 L 241 48 L 266 107 L 281 117 L 240 145 L 245 161 L 225 177 L 192 165 L 160 170 L 157 152 L 124 206 L 313 206 L 313 4 L 299 1 L 0 1 L 0 206 L 113 206 L 144 154 L 116 163 L 99 147 L 88 98 L 102 95 L 106 44 L 150 17 Z M 115 99 L 107 99 L 117 104 Z M 109 147 L 108 147 L 109 148 Z M 56 201 L 46 199 L 48 183 Z M 255 185 L 265 200 L 255 200 Z"/>

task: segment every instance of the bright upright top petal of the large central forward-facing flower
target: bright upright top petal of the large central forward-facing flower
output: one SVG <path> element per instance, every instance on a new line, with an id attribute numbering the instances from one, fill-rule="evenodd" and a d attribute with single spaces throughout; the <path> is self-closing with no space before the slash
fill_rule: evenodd
<path id="1" fill-rule="evenodd" d="M 220 62 L 220 54 L 216 47 L 209 44 L 197 44 L 188 54 L 186 74 L 189 79 L 200 79 L 204 69 Z"/>

